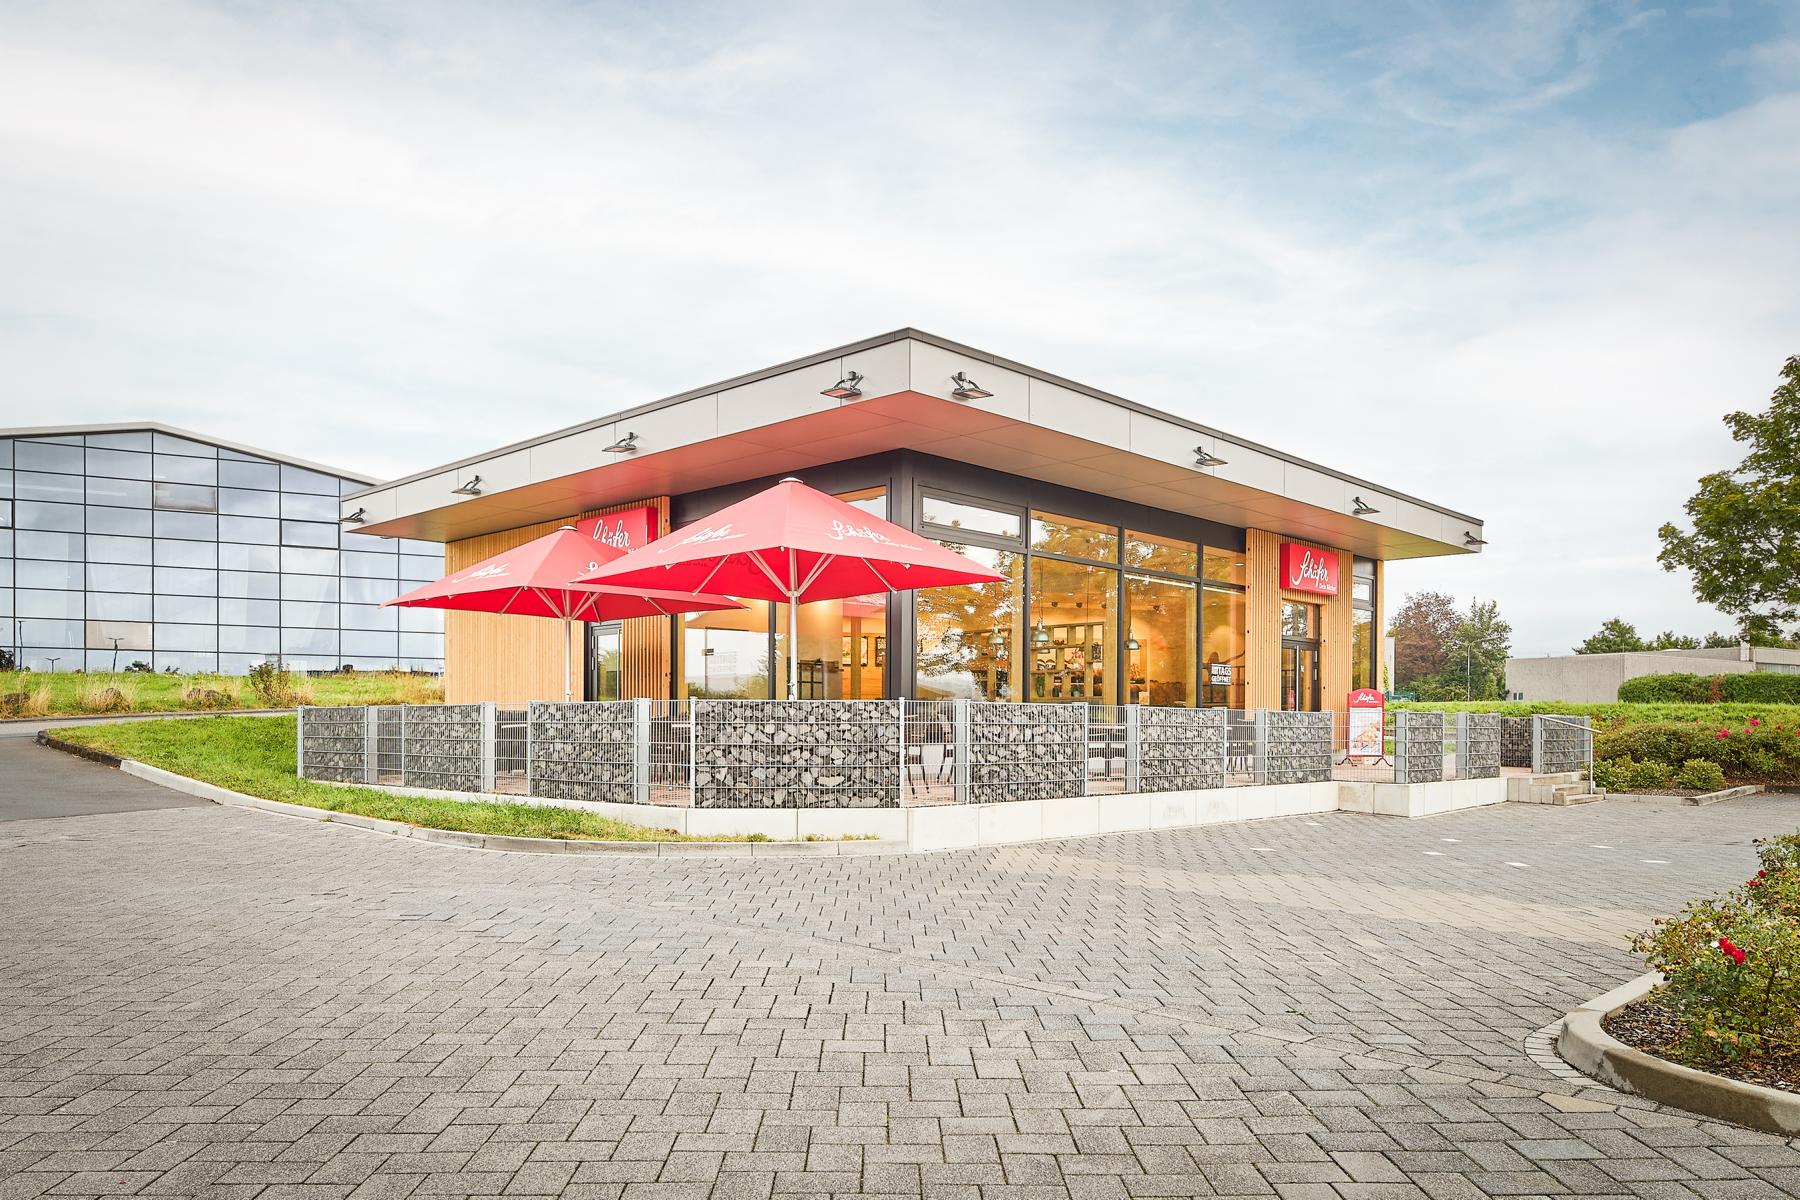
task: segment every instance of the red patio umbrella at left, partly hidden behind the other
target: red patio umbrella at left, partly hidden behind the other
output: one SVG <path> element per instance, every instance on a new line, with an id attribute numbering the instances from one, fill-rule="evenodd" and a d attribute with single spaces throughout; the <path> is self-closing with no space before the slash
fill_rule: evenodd
<path id="1" fill-rule="evenodd" d="M 445 576 L 437 583 L 427 583 L 423 588 L 385 601 L 382 606 L 562 617 L 563 700 L 572 696 L 569 678 L 569 624 L 572 621 L 623 621 L 626 617 L 666 617 L 677 612 L 743 608 L 725 596 L 657 592 L 612 583 L 571 583 L 578 574 L 623 556 L 625 551 L 596 542 L 574 525 L 563 525 L 542 538 L 533 538 Z"/>

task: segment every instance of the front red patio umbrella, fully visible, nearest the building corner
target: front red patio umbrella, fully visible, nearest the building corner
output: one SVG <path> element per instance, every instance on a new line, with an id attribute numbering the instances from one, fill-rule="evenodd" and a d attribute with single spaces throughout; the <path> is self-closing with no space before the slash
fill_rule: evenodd
<path id="1" fill-rule="evenodd" d="M 783 479 L 749 500 L 576 576 L 576 583 L 716 588 L 785 603 L 792 700 L 799 676 L 799 604 L 1004 578 L 911 529 L 814 491 L 797 479 Z"/>

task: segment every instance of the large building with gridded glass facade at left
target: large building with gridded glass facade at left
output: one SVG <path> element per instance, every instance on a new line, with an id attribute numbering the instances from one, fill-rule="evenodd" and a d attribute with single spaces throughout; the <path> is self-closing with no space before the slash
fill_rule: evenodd
<path id="1" fill-rule="evenodd" d="M 0 648 L 34 671 L 443 669 L 443 613 L 380 608 L 443 547 L 349 538 L 367 480 L 164 428 L 0 432 Z"/>

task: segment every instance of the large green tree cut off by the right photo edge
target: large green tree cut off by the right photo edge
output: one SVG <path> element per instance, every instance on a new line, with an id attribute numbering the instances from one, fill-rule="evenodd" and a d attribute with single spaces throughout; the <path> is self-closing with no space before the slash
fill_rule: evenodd
<path id="1" fill-rule="evenodd" d="M 1733 470 L 1699 479 L 1685 506 L 1692 533 L 1663 525 L 1656 561 L 1688 570 L 1694 596 L 1737 617 L 1742 631 L 1766 633 L 1800 615 L 1800 354 L 1782 367 L 1768 412 L 1732 412 L 1724 423 L 1750 450 Z"/>

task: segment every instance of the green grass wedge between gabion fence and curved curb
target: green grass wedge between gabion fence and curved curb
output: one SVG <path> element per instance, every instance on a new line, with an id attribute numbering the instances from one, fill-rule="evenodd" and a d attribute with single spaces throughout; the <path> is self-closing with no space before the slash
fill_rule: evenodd
<path id="1" fill-rule="evenodd" d="M 533 838 L 599 838 L 608 842 L 747 842 L 763 838 L 697 838 L 673 829 L 646 829 L 623 820 L 565 808 L 428 801 L 376 788 L 335 788 L 293 774 L 292 716 L 196 716 L 182 721 L 115 721 L 56 730 L 58 738 L 119 757 L 137 759 L 266 801 L 306 804 L 335 813 L 400 820 L 425 829 L 463 829 Z"/>

